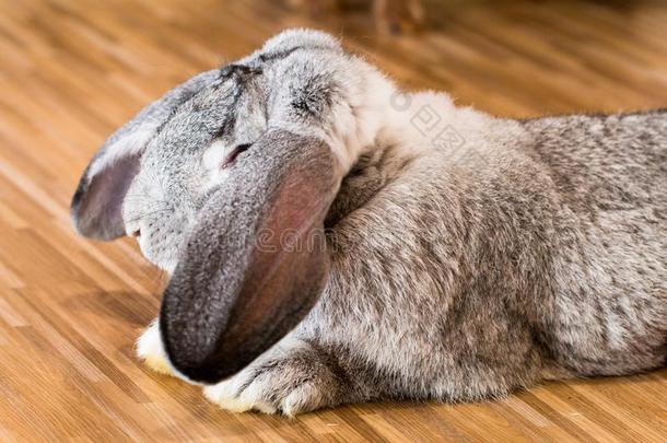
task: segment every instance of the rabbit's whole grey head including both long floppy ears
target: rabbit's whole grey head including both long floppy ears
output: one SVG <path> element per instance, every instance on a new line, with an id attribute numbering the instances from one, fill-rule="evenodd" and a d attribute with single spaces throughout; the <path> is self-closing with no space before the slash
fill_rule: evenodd
<path id="1" fill-rule="evenodd" d="M 160 322 L 183 375 L 233 374 L 314 304 L 328 269 L 318 232 L 391 91 L 331 36 L 288 31 L 168 92 L 95 154 L 74 224 L 137 236 L 172 273 Z"/>

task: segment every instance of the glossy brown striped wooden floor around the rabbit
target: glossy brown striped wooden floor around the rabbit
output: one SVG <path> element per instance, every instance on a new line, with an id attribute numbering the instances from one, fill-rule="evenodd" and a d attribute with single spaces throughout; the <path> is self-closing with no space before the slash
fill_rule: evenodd
<path id="1" fill-rule="evenodd" d="M 74 235 L 77 179 L 143 105 L 283 27 L 343 35 L 405 85 L 501 115 L 667 106 L 665 2 L 442 3 L 426 32 L 381 38 L 361 12 L 268 0 L 0 1 L 0 441 L 666 441 L 666 370 L 290 420 L 217 410 L 134 358 L 164 278 L 130 241 Z"/>

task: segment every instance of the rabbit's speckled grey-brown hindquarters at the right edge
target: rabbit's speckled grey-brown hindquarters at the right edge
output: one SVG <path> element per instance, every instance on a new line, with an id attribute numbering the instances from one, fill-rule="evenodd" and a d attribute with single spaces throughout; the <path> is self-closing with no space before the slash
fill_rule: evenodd
<path id="1" fill-rule="evenodd" d="M 667 355 L 667 112 L 530 120 L 525 152 L 558 196 L 553 288 L 534 315 L 571 371 Z"/>

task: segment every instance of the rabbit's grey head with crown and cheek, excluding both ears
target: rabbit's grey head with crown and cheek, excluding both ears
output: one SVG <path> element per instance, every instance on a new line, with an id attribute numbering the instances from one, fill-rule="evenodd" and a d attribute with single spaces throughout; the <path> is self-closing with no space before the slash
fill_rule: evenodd
<path id="1" fill-rule="evenodd" d="M 379 75 L 375 70 L 328 37 L 274 46 L 270 40 L 222 68 L 175 107 L 147 143 L 124 200 L 122 221 L 126 234 L 137 237 L 156 266 L 174 270 L 208 191 L 268 126 L 326 140 L 341 170 L 372 141 L 376 123 L 360 120 L 371 114 L 368 91 L 383 85 L 370 83 Z"/>

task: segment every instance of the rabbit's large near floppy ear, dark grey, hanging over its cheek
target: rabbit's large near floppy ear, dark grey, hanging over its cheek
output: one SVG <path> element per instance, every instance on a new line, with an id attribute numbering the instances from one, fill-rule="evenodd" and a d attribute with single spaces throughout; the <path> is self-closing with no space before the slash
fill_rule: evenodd
<path id="1" fill-rule="evenodd" d="M 273 129 L 210 195 L 160 313 L 183 375 L 214 383 L 236 373 L 315 304 L 328 276 L 324 219 L 336 166 L 325 142 Z"/>

